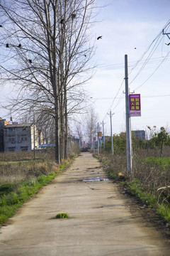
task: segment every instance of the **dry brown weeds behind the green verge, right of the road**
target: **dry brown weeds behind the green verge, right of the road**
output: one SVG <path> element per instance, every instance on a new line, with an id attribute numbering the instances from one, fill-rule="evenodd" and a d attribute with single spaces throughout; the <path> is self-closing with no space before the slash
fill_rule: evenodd
<path id="1" fill-rule="evenodd" d="M 170 164 L 164 166 L 157 161 L 146 161 L 148 156 L 159 157 L 159 150 L 149 149 L 140 150 L 135 153 L 132 159 L 133 180 L 139 180 L 145 191 L 159 193 L 164 196 L 166 201 L 170 202 Z M 169 148 L 164 149 L 164 157 L 169 156 Z M 118 174 L 127 175 L 126 155 L 104 154 L 100 155 L 103 162 L 107 163 L 110 171 L 113 171 L 115 176 Z M 163 188 L 164 187 L 164 188 Z M 167 188 L 165 188 L 167 187 Z M 158 191 L 159 188 L 162 188 Z"/>

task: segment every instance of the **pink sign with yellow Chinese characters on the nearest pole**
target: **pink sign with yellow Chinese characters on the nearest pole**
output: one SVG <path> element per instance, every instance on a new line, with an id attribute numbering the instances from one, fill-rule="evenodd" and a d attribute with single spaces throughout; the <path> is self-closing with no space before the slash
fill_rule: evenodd
<path id="1" fill-rule="evenodd" d="M 130 97 L 130 117 L 140 117 L 140 94 L 129 95 Z"/>

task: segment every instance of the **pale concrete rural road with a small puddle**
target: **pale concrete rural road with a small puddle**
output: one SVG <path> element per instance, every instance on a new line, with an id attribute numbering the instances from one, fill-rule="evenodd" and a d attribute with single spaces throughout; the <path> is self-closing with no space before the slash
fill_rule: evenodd
<path id="1" fill-rule="evenodd" d="M 169 256 L 170 246 L 132 216 L 116 185 L 96 177 L 106 178 L 101 164 L 81 153 L 1 228 L 0 255 Z M 56 219 L 59 212 L 69 218 Z"/>

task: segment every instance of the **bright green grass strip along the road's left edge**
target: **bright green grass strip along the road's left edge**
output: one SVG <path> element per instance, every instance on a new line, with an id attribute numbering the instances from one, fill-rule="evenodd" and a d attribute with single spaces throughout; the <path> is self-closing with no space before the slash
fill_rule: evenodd
<path id="1" fill-rule="evenodd" d="M 67 160 L 62 164 L 57 172 L 50 172 L 50 174 L 42 174 L 40 176 L 33 177 L 28 181 L 21 181 L 18 183 L 5 183 L 0 185 L 0 227 L 3 223 L 8 220 L 16 210 L 25 203 L 30 196 L 33 196 L 35 193 L 42 188 L 42 186 L 50 183 L 55 176 L 64 171 L 65 168 L 72 163 L 72 159 Z"/>

